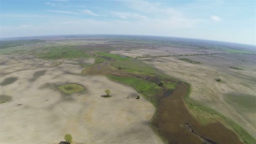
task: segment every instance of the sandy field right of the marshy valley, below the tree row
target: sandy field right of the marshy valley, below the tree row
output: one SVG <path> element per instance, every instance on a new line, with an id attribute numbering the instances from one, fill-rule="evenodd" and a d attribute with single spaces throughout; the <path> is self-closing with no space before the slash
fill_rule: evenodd
<path id="1" fill-rule="evenodd" d="M 256 137 L 256 107 L 252 105 L 253 101 L 254 104 L 256 102 L 255 57 L 246 54 L 183 57 L 202 64 L 190 64 L 178 57 L 146 58 L 144 62 L 190 83 L 193 99 L 235 120 Z M 241 67 L 243 70 L 230 69 L 229 66 Z M 222 82 L 215 81 L 218 77 Z M 243 101 L 229 100 L 230 96 L 248 99 L 243 104 Z"/>

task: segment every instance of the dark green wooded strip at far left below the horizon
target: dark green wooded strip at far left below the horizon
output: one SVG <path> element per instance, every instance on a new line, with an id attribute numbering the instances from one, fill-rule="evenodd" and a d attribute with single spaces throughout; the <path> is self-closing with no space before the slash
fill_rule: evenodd
<path id="1" fill-rule="evenodd" d="M 42 43 L 45 40 L 8 40 L 8 41 L 0 41 L 0 49 L 11 48 L 19 45 L 25 44 L 33 44 L 33 43 Z"/>

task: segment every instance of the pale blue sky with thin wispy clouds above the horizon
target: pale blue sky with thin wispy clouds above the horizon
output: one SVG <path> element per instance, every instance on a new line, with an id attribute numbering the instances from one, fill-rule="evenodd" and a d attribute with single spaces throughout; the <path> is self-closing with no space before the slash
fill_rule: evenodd
<path id="1" fill-rule="evenodd" d="M 0 37 L 122 34 L 256 45 L 256 1 L 0 0 Z"/>

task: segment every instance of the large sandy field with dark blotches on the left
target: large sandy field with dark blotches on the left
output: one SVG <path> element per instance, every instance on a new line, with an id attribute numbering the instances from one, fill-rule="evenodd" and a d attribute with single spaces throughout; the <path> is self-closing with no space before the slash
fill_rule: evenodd
<path id="1" fill-rule="evenodd" d="M 67 133 L 74 144 L 162 143 L 148 125 L 155 108 L 143 97 L 135 99 L 133 88 L 105 76 L 72 75 L 83 67 L 70 61 L 54 67 L 54 61 L 26 55 L 0 60 L 0 94 L 11 98 L 0 104 L 1 144 L 57 144 Z M 69 83 L 85 91 L 65 94 L 57 88 Z M 111 98 L 101 97 L 105 89 Z M 126 99 L 128 94 L 133 96 Z"/>

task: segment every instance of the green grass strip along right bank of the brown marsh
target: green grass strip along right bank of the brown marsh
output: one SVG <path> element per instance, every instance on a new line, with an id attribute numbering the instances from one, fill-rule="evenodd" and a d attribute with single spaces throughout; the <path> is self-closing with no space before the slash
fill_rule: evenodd
<path id="1" fill-rule="evenodd" d="M 235 123 L 233 120 L 190 98 L 190 92 L 191 86 L 189 85 L 188 92 L 183 97 L 183 99 L 190 112 L 192 112 L 192 114 L 200 121 L 201 124 L 206 125 L 208 123 L 214 122 L 215 120 L 222 120 L 224 123 L 226 123 L 226 125 L 232 127 L 246 144 L 256 143 L 256 140 L 253 138 L 253 136 L 251 136 L 250 133 L 248 133 L 243 127 Z"/>

